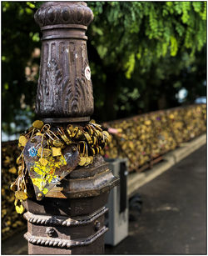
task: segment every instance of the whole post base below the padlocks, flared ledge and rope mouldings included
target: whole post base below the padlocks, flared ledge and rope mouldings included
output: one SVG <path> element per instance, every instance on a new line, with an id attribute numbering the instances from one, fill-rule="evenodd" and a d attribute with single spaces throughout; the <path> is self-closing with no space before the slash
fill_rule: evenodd
<path id="1" fill-rule="evenodd" d="M 76 168 L 41 201 L 27 199 L 29 254 L 104 253 L 109 191 L 119 182 L 101 156 Z M 82 186 L 81 186 L 82 184 Z"/>

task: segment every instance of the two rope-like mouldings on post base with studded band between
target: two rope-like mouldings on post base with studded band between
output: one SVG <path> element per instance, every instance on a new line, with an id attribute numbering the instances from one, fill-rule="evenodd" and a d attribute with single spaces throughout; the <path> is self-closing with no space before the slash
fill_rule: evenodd
<path id="1" fill-rule="evenodd" d="M 28 222 L 25 238 L 33 246 L 36 246 L 36 253 L 40 249 L 43 252 L 45 246 L 61 250 L 70 249 L 70 252 L 73 253 L 74 248 L 88 246 L 106 233 L 107 228 L 104 226 L 106 211 L 107 208 L 103 207 L 90 215 L 78 218 L 61 215 L 37 215 L 27 212 L 24 214 Z"/>

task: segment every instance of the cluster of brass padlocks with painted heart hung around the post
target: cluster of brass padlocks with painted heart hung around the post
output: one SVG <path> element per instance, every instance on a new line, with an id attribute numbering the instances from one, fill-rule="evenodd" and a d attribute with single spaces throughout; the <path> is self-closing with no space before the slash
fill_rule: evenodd
<path id="1" fill-rule="evenodd" d="M 109 134 L 92 120 L 84 127 L 68 124 L 52 128 L 40 120 L 32 123 L 19 137 L 22 153 L 17 158 L 18 177 L 11 183 L 17 213 L 24 212 L 23 201 L 42 198 L 68 173 L 79 166 L 93 163 L 101 153 Z M 64 166 L 66 168 L 64 168 Z"/>

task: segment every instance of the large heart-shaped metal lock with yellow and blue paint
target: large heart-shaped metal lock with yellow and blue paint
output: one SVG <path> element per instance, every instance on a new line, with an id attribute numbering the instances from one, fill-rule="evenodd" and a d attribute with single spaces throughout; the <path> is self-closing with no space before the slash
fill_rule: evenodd
<path id="1" fill-rule="evenodd" d="M 75 144 L 64 149 L 44 148 L 46 145 L 47 139 L 35 136 L 27 141 L 23 152 L 37 200 L 42 200 L 80 160 Z"/>

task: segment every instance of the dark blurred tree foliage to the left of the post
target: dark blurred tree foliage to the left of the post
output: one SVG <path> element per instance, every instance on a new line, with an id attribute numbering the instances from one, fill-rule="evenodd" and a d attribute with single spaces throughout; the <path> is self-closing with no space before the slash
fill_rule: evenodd
<path id="1" fill-rule="evenodd" d="M 36 79 L 29 81 L 25 68 L 39 59 L 32 58 L 40 48 L 39 28 L 34 23 L 35 5 L 28 2 L 2 2 L 2 129 L 14 133 L 33 117 Z"/>

